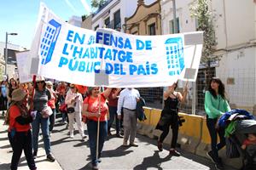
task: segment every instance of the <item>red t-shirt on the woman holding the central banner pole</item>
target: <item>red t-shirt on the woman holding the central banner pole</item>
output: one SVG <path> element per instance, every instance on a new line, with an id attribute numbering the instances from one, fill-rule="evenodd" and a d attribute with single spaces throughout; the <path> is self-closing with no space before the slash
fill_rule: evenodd
<path id="1" fill-rule="evenodd" d="M 93 98 L 91 96 L 87 96 L 84 99 L 84 104 L 88 105 L 87 111 L 92 112 L 92 113 L 97 113 L 99 112 L 99 100 L 100 98 Z M 106 103 L 106 98 L 104 97 L 104 94 L 101 94 L 101 117 L 100 117 L 100 122 L 107 121 L 107 113 L 108 113 L 108 105 Z M 87 119 L 93 120 L 93 121 L 98 121 L 98 118 L 96 116 L 87 116 Z"/>

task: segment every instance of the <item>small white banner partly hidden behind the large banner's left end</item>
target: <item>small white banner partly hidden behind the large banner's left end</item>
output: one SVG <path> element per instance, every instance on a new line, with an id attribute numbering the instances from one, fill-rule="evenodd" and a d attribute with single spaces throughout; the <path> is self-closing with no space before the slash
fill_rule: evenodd
<path id="1" fill-rule="evenodd" d="M 20 83 L 24 82 L 32 82 L 32 75 L 29 73 L 27 69 L 27 57 L 29 56 L 29 51 L 16 53 L 16 60 L 18 66 L 18 75 Z"/>

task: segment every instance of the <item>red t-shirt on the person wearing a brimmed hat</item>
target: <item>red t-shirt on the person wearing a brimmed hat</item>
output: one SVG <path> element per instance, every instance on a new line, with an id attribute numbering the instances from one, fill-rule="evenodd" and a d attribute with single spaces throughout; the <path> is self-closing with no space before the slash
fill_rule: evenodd
<path id="1" fill-rule="evenodd" d="M 9 132 L 14 127 L 17 132 L 26 132 L 30 129 L 30 124 L 20 125 L 20 123 L 15 121 L 15 118 L 18 116 L 20 116 L 20 109 L 18 108 L 18 106 L 12 105 L 9 108 L 9 128 L 8 128 Z"/>

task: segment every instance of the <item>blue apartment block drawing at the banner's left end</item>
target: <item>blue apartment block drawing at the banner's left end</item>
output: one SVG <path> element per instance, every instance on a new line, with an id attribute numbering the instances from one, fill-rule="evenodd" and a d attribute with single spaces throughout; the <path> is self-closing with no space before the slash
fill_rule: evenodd
<path id="1" fill-rule="evenodd" d="M 42 65 L 46 65 L 51 60 L 60 31 L 61 24 L 55 20 L 49 20 L 40 45 Z"/>

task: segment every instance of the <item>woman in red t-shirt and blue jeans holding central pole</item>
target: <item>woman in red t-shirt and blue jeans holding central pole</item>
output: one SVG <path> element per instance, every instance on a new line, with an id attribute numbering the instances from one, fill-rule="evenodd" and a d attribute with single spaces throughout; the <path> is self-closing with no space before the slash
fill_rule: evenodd
<path id="1" fill-rule="evenodd" d="M 111 92 L 111 88 L 107 88 L 102 94 L 99 87 L 88 88 L 88 96 L 84 99 L 83 115 L 87 118 L 87 130 L 89 134 L 90 156 L 92 168 L 98 169 L 97 164 L 100 160 L 96 160 L 96 140 L 97 140 L 97 122 L 100 121 L 99 127 L 99 147 L 98 158 L 101 157 L 104 141 L 108 133 L 108 105 L 106 98 Z M 99 112 L 99 108 L 100 112 Z"/>

